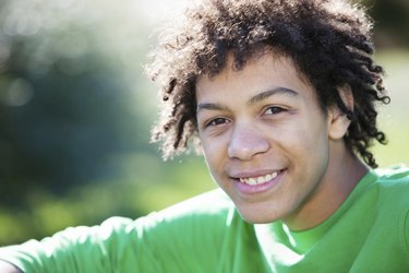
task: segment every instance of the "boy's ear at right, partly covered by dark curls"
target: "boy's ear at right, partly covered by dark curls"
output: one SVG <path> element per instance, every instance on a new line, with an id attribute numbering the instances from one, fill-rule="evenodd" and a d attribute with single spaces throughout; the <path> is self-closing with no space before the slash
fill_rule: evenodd
<path id="1" fill-rule="evenodd" d="M 353 111 L 353 95 L 349 85 L 338 87 L 338 94 L 342 99 L 345 106 Z M 342 112 L 338 106 L 334 105 L 328 110 L 328 134 L 332 140 L 342 139 L 348 131 L 351 121 L 347 115 Z"/>

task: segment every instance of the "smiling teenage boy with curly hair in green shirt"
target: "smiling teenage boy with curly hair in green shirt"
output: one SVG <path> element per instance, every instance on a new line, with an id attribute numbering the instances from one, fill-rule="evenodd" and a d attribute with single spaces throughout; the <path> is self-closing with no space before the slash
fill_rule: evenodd
<path id="1" fill-rule="evenodd" d="M 373 50 L 346 1 L 191 3 L 148 68 L 154 139 L 196 143 L 221 190 L 7 247 L 2 272 L 408 272 L 409 170 L 369 151 L 389 99 Z"/>

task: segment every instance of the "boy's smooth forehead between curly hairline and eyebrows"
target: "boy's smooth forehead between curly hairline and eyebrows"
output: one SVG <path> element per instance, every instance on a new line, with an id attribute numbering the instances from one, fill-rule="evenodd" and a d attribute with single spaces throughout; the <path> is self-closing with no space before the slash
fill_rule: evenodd
<path id="1" fill-rule="evenodd" d="M 209 76 L 203 74 L 196 81 L 196 99 L 244 95 L 265 92 L 270 88 L 284 87 L 301 93 L 315 91 L 289 57 L 273 51 L 264 51 L 248 60 L 241 69 L 234 67 L 232 55 L 227 58 L 225 69 Z M 233 92 L 233 93 L 232 93 Z M 240 93 L 240 94 L 239 94 Z"/>

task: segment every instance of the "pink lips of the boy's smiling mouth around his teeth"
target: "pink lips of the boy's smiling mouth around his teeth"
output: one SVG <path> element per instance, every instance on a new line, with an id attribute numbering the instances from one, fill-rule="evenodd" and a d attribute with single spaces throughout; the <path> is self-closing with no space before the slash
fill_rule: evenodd
<path id="1" fill-rule="evenodd" d="M 276 170 L 276 171 L 278 171 L 277 177 L 275 177 L 270 181 L 267 181 L 267 182 L 264 182 L 264 183 L 249 185 L 249 183 L 241 182 L 239 178 L 232 178 L 232 179 L 233 179 L 236 189 L 241 194 L 244 194 L 244 195 L 256 194 L 256 193 L 262 193 L 262 192 L 268 191 L 269 189 L 275 188 L 275 186 L 280 182 L 282 176 L 286 173 L 286 169 Z M 272 173 L 274 173 L 274 171 L 270 171 L 270 173 L 263 171 L 263 173 L 258 173 L 257 175 L 255 175 L 254 173 L 252 173 L 252 174 L 242 173 L 242 174 L 239 174 L 239 176 L 237 176 L 237 177 L 242 177 L 242 178 L 244 178 L 244 177 L 245 178 L 257 177 L 257 176 L 264 176 L 264 175 L 272 174 Z M 261 174 L 263 174 L 263 175 L 261 175 Z"/>

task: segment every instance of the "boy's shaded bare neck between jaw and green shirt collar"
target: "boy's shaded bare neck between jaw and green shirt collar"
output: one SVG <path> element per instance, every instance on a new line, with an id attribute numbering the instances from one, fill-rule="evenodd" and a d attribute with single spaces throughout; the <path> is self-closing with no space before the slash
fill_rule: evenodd
<path id="1" fill-rule="evenodd" d="M 344 203 L 368 170 L 368 166 L 346 149 L 344 141 L 334 144 L 320 185 L 297 212 L 284 218 L 285 224 L 291 230 L 320 225 Z"/>

